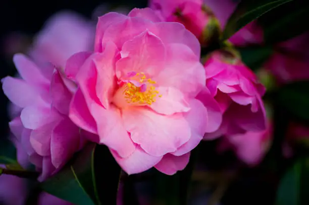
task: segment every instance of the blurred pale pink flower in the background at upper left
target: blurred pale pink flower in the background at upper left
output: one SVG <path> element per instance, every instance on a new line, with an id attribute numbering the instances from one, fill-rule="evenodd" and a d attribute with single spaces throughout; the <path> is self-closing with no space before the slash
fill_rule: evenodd
<path id="1" fill-rule="evenodd" d="M 51 62 L 64 69 L 74 53 L 92 50 L 94 25 L 73 12 L 60 12 L 49 18 L 35 37 L 31 57 L 42 64 Z"/>

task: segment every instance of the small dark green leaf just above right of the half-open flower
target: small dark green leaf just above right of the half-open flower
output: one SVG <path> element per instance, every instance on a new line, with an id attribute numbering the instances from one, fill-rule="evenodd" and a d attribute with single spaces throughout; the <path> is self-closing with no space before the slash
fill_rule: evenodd
<path id="1" fill-rule="evenodd" d="M 261 68 L 263 63 L 273 53 L 272 47 L 267 46 L 254 46 L 254 47 L 242 47 L 238 48 L 242 61 L 255 71 Z"/>

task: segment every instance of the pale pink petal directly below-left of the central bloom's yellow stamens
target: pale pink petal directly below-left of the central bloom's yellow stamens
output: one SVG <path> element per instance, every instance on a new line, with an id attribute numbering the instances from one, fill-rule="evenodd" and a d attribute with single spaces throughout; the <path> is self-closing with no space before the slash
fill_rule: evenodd
<path id="1" fill-rule="evenodd" d="M 128 157 L 135 150 L 130 135 L 123 126 L 120 110 L 114 106 L 110 109 L 93 104 L 90 112 L 96 121 L 100 144 L 117 151 L 120 157 Z"/>

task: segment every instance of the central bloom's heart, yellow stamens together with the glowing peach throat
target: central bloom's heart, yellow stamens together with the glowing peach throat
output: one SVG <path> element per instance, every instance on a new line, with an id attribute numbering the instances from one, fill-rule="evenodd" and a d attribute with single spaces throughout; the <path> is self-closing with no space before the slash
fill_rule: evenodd
<path id="1" fill-rule="evenodd" d="M 156 90 L 157 82 L 146 78 L 144 73 L 130 72 L 127 77 L 128 80 L 119 83 L 121 87 L 114 96 L 113 101 L 118 107 L 151 105 L 157 96 L 162 97 Z"/>

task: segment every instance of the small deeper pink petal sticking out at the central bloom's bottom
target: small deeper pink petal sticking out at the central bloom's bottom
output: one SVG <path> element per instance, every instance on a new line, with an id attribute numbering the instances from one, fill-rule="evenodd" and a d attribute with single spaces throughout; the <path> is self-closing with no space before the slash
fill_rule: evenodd
<path id="1" fill-rule="evenodd" d="M 189 163 L 190 153 L 174 156 L 166 154 L 162 160 L 155 166 L 160 172 L 168 175 L 173 175 L 177 171 L 183 170 Z"/>

